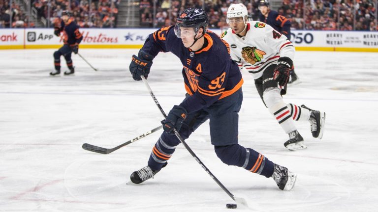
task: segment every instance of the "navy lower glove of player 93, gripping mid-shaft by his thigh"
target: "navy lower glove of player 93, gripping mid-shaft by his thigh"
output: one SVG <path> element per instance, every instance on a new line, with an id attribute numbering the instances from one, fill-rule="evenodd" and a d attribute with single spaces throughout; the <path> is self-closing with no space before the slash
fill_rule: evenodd
<path id="1" fill-rule="evenodd" d="M 167 118 L 162 120 L 163 130 L 165 132 L 171 133 L 174 128 L 177 131 L 181 129 L 183 121 L 187 118 L 187 110 L 182 106 L 173 106 L 171 111 L 169 111 Z"/>

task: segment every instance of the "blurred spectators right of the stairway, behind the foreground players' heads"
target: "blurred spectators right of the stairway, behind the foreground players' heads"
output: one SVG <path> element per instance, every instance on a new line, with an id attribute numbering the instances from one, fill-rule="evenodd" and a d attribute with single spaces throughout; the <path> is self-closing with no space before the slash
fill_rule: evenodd
<path id="1" fill-rule="evenodd" d="M 203 7 L 209 16 L 210 28 L 227 27 L 226 13 L 231 3 L 247 6 L 250 18 L 258 20 L 259 0 L 157 0 L 154 23 L 153 0 L 140 1 L 142 27 L 163 27 L 175 23 L 177 14 L 187 7 Z M 278 12 L 288 18 L 292 29 L 367 30 L 377 31 L 374 0 L 283 0 Z M 355 11 L 355 13 L 354 13 Z M 355 22 L 354 22 L 355 20 Z"/>

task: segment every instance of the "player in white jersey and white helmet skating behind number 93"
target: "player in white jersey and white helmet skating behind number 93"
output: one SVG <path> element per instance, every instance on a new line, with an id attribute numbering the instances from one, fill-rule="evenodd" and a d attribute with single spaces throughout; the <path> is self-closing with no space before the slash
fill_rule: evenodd
<path id="1" fill-rule="evenodd" d="M 247 8 L 231 4 L 227 10 L 229 28 L 221 35 L 231 50 L 231 58 L 240 70 L 252 74 L 256 89 L 269 112 L 276 118 L 289 139 L 284 146 L 289 150 L 306 149 L 295 121 L 310 121 L 313 137 L 321 139 L 325 113 L 307 106 L 285 104 L 289 71 L 293 67 L 295 48 L 292 43 L 269 25 L 247 19 Z"/>

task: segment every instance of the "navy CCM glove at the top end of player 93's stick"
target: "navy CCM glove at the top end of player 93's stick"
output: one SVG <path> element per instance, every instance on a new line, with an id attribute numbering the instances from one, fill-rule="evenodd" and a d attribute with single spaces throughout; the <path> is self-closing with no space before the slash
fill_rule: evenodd
<path id="1" fill-rule="evenodd" d="M 132 79 L 137 81 L 142 80 L 142 78 L 140 78 L 142 75 L 147 79 L 153 59 L 154 56 L 144 52 L 143 50 L 139 51 L 138 56 L 135 56 L 135 54 L 132 55 L 131 63 L 128 67 L 130 69 Z"/>

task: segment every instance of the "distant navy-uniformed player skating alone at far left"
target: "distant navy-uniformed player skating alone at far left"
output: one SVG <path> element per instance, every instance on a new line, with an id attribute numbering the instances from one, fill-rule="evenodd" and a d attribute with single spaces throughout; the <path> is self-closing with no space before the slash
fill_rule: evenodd
<path id="1" fill-rule="evenodd" d="M 62 12 L 62 20 L 57 20 L 55 23 L 54 34 L 61 36 L 63 33 L 63 47 L 54 52 L 54 65 L 55 70 L 50 73 L 51 76 L 61 74 L 61 56 L 63 55 L 65 62 L 67 63 L 68 70 L 64 72 L 64 75 L 71 75 L 75 73 L 75 69 L 72 65 L 71 54 L 78 53 L 79 44 L 83 39 L 82 34 L 79 31 L 79 26 L 74 22 L 74 18 L 71 17 L 71 13 L 68 11 Z"/>

